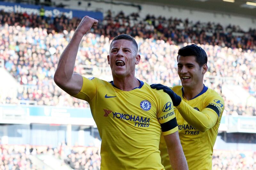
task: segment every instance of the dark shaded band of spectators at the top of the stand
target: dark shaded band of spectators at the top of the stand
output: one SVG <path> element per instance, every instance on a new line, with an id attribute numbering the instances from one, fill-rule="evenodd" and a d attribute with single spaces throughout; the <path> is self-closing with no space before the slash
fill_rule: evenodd
<path id="1" fill-rule="evenodd" d="M 70 32 L 76 29 L 80 19 L 68 19 L 65 16 L 56 18 L 40 17 L 27 13 L 0 12 L 1 24 L 9 26 L 39 27 L 47 29 L 47 33 Z M 133 37 L 139 36 L 144 39 L 168 41 L 170 44 L 195 43 L 218 45 L 228 48 L 256 49 L 256 29 L 249 29 L 247 32 L 239 26 L 228 25 L 226 28 L 218 23 L 193 23 L 189 19 L 165 18 L 148 15 L 140 18 L 138 13 L 128 16 L 120 11 L 116 16 L 108 11 L 102 22 L 93 31 L 96 34 L 104 35 L 113 39 L 116 35 L 126 33 Z"/>

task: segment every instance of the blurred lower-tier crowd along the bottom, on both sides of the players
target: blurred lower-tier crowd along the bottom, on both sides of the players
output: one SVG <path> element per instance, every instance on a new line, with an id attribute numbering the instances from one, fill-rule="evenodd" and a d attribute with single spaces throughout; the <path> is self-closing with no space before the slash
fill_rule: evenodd
<path id="1" fill-rule="evenodd" d="M 57 147 L 31 145 L 0 145 L 0 170 L 40 170 L 29 159 L 38 154 L 52 154 L 63 160 L 74 170 L 99 170 L 100 149 L 98 147 Z M 61 155 L 61 156 L 60 156 Z M 256 168 L 256 152 L 214 150 L 213 170 Z"/>

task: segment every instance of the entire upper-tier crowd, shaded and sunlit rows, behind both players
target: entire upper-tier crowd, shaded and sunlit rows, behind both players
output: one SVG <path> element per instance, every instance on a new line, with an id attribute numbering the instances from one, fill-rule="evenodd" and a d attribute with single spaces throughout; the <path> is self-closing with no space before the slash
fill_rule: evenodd
<path id="1" fill-rule="evenodd" d="M 54 19 L 44 18 L 43 21 L 37 22 L 42 18 L 25 13 L 10 14 L 1 12 L 0 59 L 4 60 L 5 69 L 22 85 L 18 89 L 16 98 L 7 96 L 6 98 L 1 98 L 1 102 L 17 104 L 20 100 L 34 100 L 37 105 L 89 107 L 87 102 L 70 97 L 57 87 L 53 81 L 53 75 L 60 54 L 71 39 L 79 20 L 75 18 L 68 20 L 62 16 Z M 23 18 L 18 19 L 21 15 Z M 87 76 L 104 77 L 104 74 L 108 74 L 111 77 L 110 71 L 107 71 L 107 73 L 103 73 L 102 71 L 100 74 L 97 71 L 92 71 L 92 67 L 97 66 L 98 68 L 109 70 L 107 55 L 110 38 L 116 35 L 114 34 L 115 31 L 111 32 L 114 27 L 113 23 L 115 23 L 114 25 L 119 24 L 116 26 L 116 28 L 119 28 L 119 32 L 117 31 L 115 33 L 132 34 L 129 32 L 129 26 L 132 26 L 132 24 L 127 24 L 127 22 L 142 22 L 138 18 L 139 16 L 137 14 L 125 17 L 122 12 L 116 17 L 112 17 L 111 12 L 109 12 L 101 24 L 92 29 L 92 33 L 84 36 L 78 51 L 75 71 L 85 74 L 85 71 L 88 71 L 85 68 L 89 67 L 91 72 L 89 71 Z M 152 17 L 147 17 L 144 20 L 145 22 L 143 21 L 143 23 L 146 25 L 141 26 L 143 28 L 159 24 L 168 25 L 164 19 L 159 19 L 158 21 L 157 19 L 152 19 Z M 155 22 L 150 23 L 150 20 L 154 20 Z M 174 21 L 174 25 L 176 22 L 181 23 L 181 20 L 174 19 Z M 193 27 L 191 22 L 186 22 L 187 26 Z M 63 23 L 66 23 L 67 27 L 58 30 L 58 24 L 65 25 Z M 69 24 L 67 25 L 67 23 Z M 196 25 L 199 26 L 200 24 L 197 23 Z M 120 31 L 122 30 L 121 28 L 128 31 L 122 32 Z M 133 26 L 133 28 L 140 27 Z M 157 29 L 154 27 L 153 30 L 156 31 Z M 175 30 L 179 31 L 177 28 Z M 136 76 L 140 80 L 150 84 L 179 85 L 180 79 L 176 71 L 178 49 L 185 46 L 187 44 L 186 42 L 196 41 L 182 40 L 185 43 L 164 41 L 158 40 L 156 36 L 145 37 L 146 34 L 132 34 L 133 36 L 139 35 L 135 39 L 139 45 L 138 53 L 141 55 L 141 62 L 137 67 Z M 253 35 L 253 33 L 249 34 Z M 162 38 L 165 39 L 164 37 Z M 210 45 L 212 43 L 206 42 L 207 39 L 205 37 L 202 39 L 204 40 L 204 45 L 200 46 L 207 52 L 209 67 L 206 73 L 205 85 L 219 93 L 222 92 L 222 86 L 227 83 L 240 85 L 251 96 L 256 97 L 256 53 L 250 49 L 242 50 L 242 48 L 236 48 L 236 45 L 234 47 L 232 46 L 232 48 L 222 47 L 226 45 L 218 46 L 217 44 L 213 44 L 213 46 Z M 220 37 L 218 38 L 218 40 L 221 39 Z M 246 38 L 242 37 L 242 40 L 246 41 Z M 252 44 L 255 45 L 256 43 Z M 86 67 L 84 68 L 83 66 Z M 223 97 L 225 99 L 225 96 Z M 256 115 L 255 106 L 234 104 L 232 100 L 228 99 L 225 100 L 225 108 L 226 114 L 228 115 Z"/>

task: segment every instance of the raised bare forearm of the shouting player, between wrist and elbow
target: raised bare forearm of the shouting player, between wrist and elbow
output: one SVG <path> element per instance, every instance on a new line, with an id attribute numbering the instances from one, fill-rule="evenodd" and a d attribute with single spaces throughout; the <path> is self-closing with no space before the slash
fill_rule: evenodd
<path id="1" fill-rule="evenodd" d="M 54 77 L 57 79 L 61 79 L 62 82 L 67 82 L 72 77 L 76 62 L 77 51 L 83 36 L 83 33 L 76 31 L 68 46 L 65 48 L 60 56 L 60 60 Z"/>

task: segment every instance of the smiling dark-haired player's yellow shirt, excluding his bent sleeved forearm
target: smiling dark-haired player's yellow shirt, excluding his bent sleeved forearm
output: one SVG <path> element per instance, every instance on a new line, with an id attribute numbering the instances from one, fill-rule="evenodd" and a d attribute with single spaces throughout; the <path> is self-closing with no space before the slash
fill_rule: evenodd
<path id="1" fill-rule="evenodd" d="M 218 135 L 220 119 L 224 110 L 223 98 L 214 90 L 204 86 L 202 92 L 191 100 L 183 97 L 182 86 L 174 86 L 172 90 L 178 94 L 184 102 L 195 110 L 212 109 L 212 114 L 217 117 L 217 123 L 205 132 L 191 126 L 180 115 L 177 108 L 174 108 L 176 119 L 179 127 L 180 142 L 188 162 L 188 169 L 209 170 L 212 169 L 212 152 L 213 146 Z M 180 105 L 179 105 L 180 106 Z M 193 109 L 193 110 L 194 110 Z M 213 115 L 214 116 L 214 115 Z M 162 164 L 166 170 L 171 170 L 169 156 L 167 153 L 164 137 L 161 136 L 159 150 L 161 151 Z"/>

